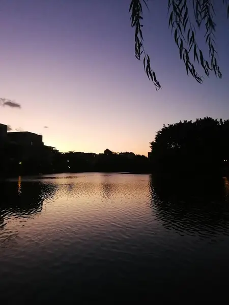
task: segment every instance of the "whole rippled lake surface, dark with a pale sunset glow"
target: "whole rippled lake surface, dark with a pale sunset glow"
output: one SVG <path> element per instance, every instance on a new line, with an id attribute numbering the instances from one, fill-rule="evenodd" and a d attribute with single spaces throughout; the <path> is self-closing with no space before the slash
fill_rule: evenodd
<path id="1" fill-rule="evenodd" d="M 227 300 L 228 181 L 60 174 L 1 186 L 4 304 Z"/>

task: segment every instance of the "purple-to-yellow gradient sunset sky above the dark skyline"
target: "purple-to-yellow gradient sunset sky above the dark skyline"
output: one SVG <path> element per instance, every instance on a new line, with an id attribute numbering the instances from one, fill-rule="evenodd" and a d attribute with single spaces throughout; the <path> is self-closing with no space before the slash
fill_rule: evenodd
<path id="1" fill-rule="evenodd" d="M 187 76 L 168 28 L 167 0 L 150 0 L 142 28 L 162 85 L 156 92 L 134 55 L 130 0 L 2 0 L 0 123 L 43 135 L 60 151 L 147 155 L 163 124 L 229 118 L 229 21 L 219 7 L 223 74 Z M 218 2 L 217 5 L 219 6 Z M 6 103 L 6 102 L 5 102 Z"/>

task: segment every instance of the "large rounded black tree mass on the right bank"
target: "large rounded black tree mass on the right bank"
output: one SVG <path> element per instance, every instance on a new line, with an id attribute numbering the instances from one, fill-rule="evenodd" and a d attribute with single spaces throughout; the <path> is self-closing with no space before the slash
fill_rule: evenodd
<path id="1" fill-rule="evenodd" d="M 205 117 L 163 125 L 150 147 L 154 172 L 228 173 L 229 120 Z"/>

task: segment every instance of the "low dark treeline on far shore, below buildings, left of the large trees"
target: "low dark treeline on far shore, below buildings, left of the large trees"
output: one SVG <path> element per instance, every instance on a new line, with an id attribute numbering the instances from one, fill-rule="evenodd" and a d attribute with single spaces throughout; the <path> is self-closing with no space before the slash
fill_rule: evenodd
<path id="1" fill-rule="evenodd" d="M 12 158 L 14 156 L 14 158 Z M 23 161 L 21 161 L 23 160 Z M 2 175 L 28 175 L 61 172 L 149 172 L 146 156 L 134 153 L 113 153 L 105 149 L 103 154 L 79 153 L 69 151 L 60 153 L 53 150 L 50 154 L 37 154 L 28 158 L 15 154 L 3 155 Z"/>

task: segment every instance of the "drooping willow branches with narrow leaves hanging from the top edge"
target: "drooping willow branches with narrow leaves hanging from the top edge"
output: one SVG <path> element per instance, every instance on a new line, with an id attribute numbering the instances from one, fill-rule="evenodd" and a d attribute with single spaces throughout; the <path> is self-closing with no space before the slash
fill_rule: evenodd
<path id="1" fill-rule="evenodd" d="M 160 0 L 161 1 L 161 0 Z M 129 13 L 131 14 L 131 26 L 135 29 L 135 56 L 138 60 L 144 57 L 144 69 L 148 78 L 154 83 L 156 90 L 161 88 L 156 73 L 151 68 L 150 56 L 145 51 L 142 35 L 142 4 L 148 8 L 148 0 L 131 0 Z M 229 0 L 217 0 L 226 6 L 227 18 L 229 17 Z M 201 66 L 204 74 L 209 77 L 214 72 L 216 77 L 222 74 L 217 63 L 215 49 L 214 22 L 215 10 L 213 0 L 168 0 L 168 25 L 174 35 L 175 43 L 179 49 L 180 59 L 183 60 L 187 74 L 191 74 L 198 83 L 202 83 L 204 77 L 196 71 L 195 62 Z M 199 48 L 196 40 L 196 29 L 205 26 L 205 42 L 209 50 L 209 59 Z"/>

